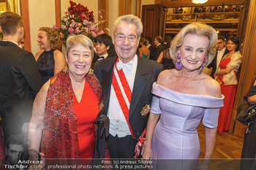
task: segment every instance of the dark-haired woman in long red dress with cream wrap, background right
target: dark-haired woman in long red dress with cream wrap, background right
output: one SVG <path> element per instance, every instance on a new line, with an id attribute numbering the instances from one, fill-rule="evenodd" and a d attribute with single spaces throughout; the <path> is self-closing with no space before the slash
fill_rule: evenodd
<path id="1" fill-rule="evenodd" d="M 219 68 L 215 72 L 215 79 L 222 83 L 220 88 L 224 98 L 224 107 L 219 110 L 219 123 L 217 131 L 222 134 L 228 131 L 232 115 L 234 99 L 236 96 L 237 72 L 241 64 L 242 55 L 240 53 L 239 39 L 236 36 L 230 36 L 227 39 L 227 53 L 219 63 Z"/>

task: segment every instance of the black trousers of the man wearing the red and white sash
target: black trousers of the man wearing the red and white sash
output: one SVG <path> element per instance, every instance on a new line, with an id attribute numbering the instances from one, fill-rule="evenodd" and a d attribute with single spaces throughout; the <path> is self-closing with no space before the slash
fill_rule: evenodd
<path id="1" fill-rule="evenodd" d="M 137 141 L 132 135 L 119 138 L 117 135 L 108 136 L 107 145 L 110 158 L 134 158 Z"/>

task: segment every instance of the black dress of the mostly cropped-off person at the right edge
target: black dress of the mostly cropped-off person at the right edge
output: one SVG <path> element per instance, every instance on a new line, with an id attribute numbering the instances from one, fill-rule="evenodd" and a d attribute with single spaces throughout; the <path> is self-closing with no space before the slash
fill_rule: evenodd
<path id="1" fill-rule="evenodd" d="M 256 78 L 255 78 L 256 80 Z M 247 100 L 250 96 L 255 96 L 256 85 L 255 80 L 252 82 L 248 93 L 244 96 L 244 100 Z M 244 134 L 244 145 L 241 155 L 240 170 L 256 169 L 256 116 L 252 119 L 252 128 L 249 134 Z M 246 159 L 244 159 L 246 158 Z"/>

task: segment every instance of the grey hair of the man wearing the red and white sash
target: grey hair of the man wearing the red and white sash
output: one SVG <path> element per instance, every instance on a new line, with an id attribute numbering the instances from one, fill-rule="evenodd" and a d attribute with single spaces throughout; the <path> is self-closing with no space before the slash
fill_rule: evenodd
<path id="1" fill-rule="evenodd" d="M 140 20 L 140 18 L 136 17 L 135 15 L 123 15 L 116 19 L 114 25 L 113 25 L 113 34 L 116 34 L 116 27 L 121 22 L 134 24 L 137 28 L 137 35 L 138 37 L 142 34 L 143 31 L 143 24 Z"/>

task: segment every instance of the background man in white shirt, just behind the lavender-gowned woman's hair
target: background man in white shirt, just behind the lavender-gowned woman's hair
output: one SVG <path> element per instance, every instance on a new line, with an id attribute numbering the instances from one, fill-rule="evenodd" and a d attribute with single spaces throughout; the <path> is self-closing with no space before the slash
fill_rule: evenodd
<path id="1" fill-rule="evenodd" d="M 211 70 L 212 78 L 214 78 L 214 73 L 217 71 L 220 61 L 222 61 L 222 58 L 224 57 L 224 55 L 228 53 L 228 50 L 225 47 L 225 45 L 226 45 L 226 39 L 224 38 L 224 36 L 218 36 L 218 41 L 216 46 L 217 53 L 213 61 L 211 61 L 211 63 L 207 66 L 208 69 L 212 68 Z"/>

